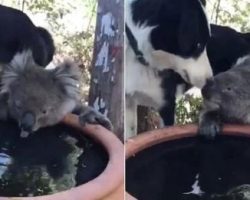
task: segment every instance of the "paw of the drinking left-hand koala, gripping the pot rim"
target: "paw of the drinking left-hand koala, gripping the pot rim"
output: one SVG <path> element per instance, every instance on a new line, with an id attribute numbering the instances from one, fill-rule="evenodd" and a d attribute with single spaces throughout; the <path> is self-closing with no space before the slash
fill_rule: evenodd
<path id="1" fill-rule="evenodd" d="M 89 124 L 100 124 L 108 130 L 113 130 L 113 126 L 110 120 L 94 108 L 86 107 L 83 112 L 80 113 L 80 123 L 84 126 L 86 123 Z"/>

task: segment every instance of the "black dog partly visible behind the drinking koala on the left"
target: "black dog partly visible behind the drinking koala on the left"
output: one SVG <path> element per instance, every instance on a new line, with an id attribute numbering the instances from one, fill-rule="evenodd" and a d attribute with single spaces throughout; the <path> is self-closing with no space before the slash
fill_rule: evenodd
<path id="1" fill-rule="evenodd" d="M 46 66 L 55 52 L 52 36 L 22 11 L 0 5 L 0 64 L 10 63 L 17 53 L 28 49 L 36 64 Z"/>

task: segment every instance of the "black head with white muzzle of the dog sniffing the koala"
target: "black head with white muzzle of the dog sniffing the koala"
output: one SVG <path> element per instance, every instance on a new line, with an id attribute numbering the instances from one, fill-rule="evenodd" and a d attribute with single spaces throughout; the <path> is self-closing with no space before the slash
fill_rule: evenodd
<path id="1" fill-rule="evenodd" d="M 206 46 L 210 26 L 204 2 L 199 0 L 164 1 L 159 24 L 151 33 L 154 65 L 172 68 L 185 81 L 203 87 L 212 76 Z"/>

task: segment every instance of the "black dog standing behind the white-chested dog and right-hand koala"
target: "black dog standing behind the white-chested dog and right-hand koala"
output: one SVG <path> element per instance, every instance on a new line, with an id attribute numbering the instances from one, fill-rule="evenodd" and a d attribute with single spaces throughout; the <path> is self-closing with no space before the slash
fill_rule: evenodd
<path id="1" fill-rule="evenodd" d="M 214 24 L 211 25 L 211 33 L 207 54 L 214 75 L 229 70 L 241 58 L 250 54 L 250 33 L 240 33 L 230 27 Z M 160 109 L 160 115 L 164 125 L 169 126 L 174 124 L 177 88 L 185 92 L 192 85 L 173 71 L 165 70 L 161 74 L 166 103 Z"/>

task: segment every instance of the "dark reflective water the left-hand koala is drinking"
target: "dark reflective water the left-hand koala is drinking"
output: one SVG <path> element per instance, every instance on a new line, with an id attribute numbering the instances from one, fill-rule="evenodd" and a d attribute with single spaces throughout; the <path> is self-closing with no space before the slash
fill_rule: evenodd
<path id="1" fill-rule="evenodd" d="M 108 154 L 82 132 L 60 124 L 20 137 L 15 122 L 0 122 L 0 196 L 38 196 L 96 178 Z"/>

